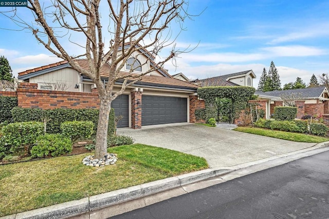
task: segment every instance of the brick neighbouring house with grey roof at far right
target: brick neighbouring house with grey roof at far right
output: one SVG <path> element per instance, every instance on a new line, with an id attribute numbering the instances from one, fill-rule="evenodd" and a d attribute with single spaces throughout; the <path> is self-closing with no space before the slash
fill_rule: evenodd
<path id="1" fill-rule="evenodd" d="M 298 108 L 298 118 L 301 118 L 304 114 L 312 116 L 329 114 L 329 92 L 325 86 L 262 93 L 269 96 L 276 96 L 277 102 L 281 101 L 283 105 L 291 105 L 294 102 Z M 274 107 L 275 103 L 272 101 L 271 113 L 274 112 Z"/>

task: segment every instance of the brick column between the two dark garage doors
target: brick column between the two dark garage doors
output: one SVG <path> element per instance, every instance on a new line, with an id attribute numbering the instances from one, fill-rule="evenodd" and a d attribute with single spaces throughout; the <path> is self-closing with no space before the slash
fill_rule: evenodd
<path id="1" fill-rule="evenodd" d="M 142 127 L 142 92 L 138 88 L 132 89 L 132 128 Z"/>

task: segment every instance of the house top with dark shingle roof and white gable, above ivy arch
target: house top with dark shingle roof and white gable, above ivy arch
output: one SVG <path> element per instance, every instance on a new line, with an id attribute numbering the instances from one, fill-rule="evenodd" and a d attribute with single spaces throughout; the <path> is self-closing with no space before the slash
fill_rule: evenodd
<path id="1" fill-rule="evenodd" d="M 208 86 L 253 86 L 253 78 L 256 75 L 252 70 L 235 72 L 232 74 L 225 74 L 216 77 L 209 77 L 205 79 L 196 79 L 191 81 L 193 84 L 197 84 L 202 87 Z"/>

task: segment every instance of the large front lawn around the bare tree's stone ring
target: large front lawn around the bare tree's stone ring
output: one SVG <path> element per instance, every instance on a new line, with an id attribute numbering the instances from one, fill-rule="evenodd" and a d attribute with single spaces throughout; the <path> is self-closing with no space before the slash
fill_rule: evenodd
<path id="1" fill-rule="evenodd" d="M 81 163 L 92 153 L 0 165 L 0 216 L 208 168 L 204 158 L 141 144 L 108 152 L 119 160 L 99 168 Z"/>

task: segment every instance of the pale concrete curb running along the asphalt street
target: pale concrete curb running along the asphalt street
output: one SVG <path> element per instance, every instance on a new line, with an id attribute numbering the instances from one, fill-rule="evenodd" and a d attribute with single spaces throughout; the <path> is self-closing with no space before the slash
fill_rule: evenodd
<path id="1" fill-rule="evenodd" d="M 99 195 L 93 195 L 89 198 L 82 198 L 81 200 L 66 202 L 58 205 L 52 205 L 45 208 L 35 209 L 31 211 L 26 211 L 22 213 L 17 213 L 13 215 L 8 215 L 1 217 L 3 219 L 18 219 L 18 218 L 67 218 L 76 215 L 93 212 L 95 210 L 106 208 L 108 206 L 113 206 L 119 203 L 132 201 L 140 197 L 152 195 L 158 192 L 166 191 L 169 189 L 175 189 L 177 187 L 182 187 L 184 185 L 193 184 L 206 180 L 211 177 L 221 176 L 233 171 L 243 171 L 247 167 L 257 166 L 264 164 L 266 162 L 271 163 L 270 165 L 264 165 L 263 168 L 259 168 L 258 171 L 262 169 L 267 169 L 269 167 L 278 166 L 281 164 L 289 163 L 294 160 L 298 160 L 302 157 L 312 156 L 317 153 L 328 151 L 327 146 L 329 142 L 317 144 L 314 147 L 317 149 L 303 149 L 296 153 L 290 152 L 287 154 L 282 154 L 282 156 L 273 156 L 271 159 L 265 158 L 263 160 L 250 162 L 247 164 L 237 165 L 231 167 L 232 169 L 221 169 L 221 168 L 209 168 L 206 170 L 200 170 L 192 173 L 187 173 L 179 176 L 174 176 L 170 178 L 165 178 L 163 180 L 158 180 L 150 183 L 145 183 L 142 185 L 137 185 L 125 189 L 119 189 L 112 192 L 107 192 Z M 257 171 L 257 170 L 256 170 Z M 256 172 L 254 171 L 254 172 Z M 248 171 L 244 171 L 244 174 L 249 174 Z M 242 175 L 244 175 L 242 174 Z M 240 175 L 240 176 L 242 176 Z M 232 178 L 231 178 L 232 179 Z M 226 178 L 225 181 L 229 180 Z"/>

